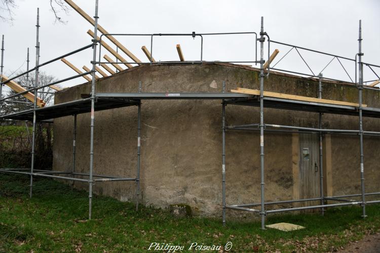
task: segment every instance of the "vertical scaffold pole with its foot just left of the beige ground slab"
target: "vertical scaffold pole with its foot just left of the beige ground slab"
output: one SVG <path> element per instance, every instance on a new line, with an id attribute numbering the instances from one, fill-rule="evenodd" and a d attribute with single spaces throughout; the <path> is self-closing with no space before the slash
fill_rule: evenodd
<path id="1" fill-rule="evenodd" d="M 264 18 L 261 17 L 260 30 L 260 191 L 261 191 L 261 229 L 265 229 L 265 204 L 264 204 Z"/>

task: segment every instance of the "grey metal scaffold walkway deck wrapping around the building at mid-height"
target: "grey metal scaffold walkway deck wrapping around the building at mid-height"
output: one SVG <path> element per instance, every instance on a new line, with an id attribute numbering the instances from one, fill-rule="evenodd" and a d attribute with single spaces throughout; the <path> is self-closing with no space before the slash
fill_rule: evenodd
<path id="1" fill-rule="evenodd" d="M 37 120 L 64 117 L 69 115 L 81 114 L 91 111 L 91 98 L 89 94 L 82 94 L 84 99 L 56 104 L 35 110 Z M 205 100 L 224 100 L 226 104 L 260 106 L 258 95 L 242 93 L 96 93 L 95 111 L 120 108 L 138 105 L 141 100 L 182 100 L 182 99 L 205 99 Z M 331 114 L 355 115 L 358 114 L 358 107 L 349 105 L 339 105 L 322 102 L 301 101 L 287 98 L 264 97 L 264 107 L 323 112 Z M 363 116 L 380 118 L 380 108 L 363 107 Z M 32 120 L 33 109 L 11 113 L 0 116 L 0 118 Z M 316 130 L 317 131 L 317 130 Z M 341 131 L 340 131 L 341 132 Z M 370 133 L 370 132 L 368 132 Z"/>

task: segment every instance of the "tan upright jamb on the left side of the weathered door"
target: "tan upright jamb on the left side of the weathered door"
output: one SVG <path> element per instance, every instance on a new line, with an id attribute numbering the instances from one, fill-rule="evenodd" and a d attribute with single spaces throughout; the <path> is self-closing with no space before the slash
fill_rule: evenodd
<path id="1" fill-rule="evenodd" d="M 299 199 L 299 134 L 292 134 L 293 199 Z M 300 206 L 294 203 L 294 207 Z"/>

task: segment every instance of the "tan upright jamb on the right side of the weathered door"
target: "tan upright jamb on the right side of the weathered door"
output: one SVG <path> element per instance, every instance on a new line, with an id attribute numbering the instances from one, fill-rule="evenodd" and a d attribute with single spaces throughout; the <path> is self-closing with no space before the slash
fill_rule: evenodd
<path id="1" fill-rule="evenodd" d="M 324 196 L 333 196 L 331 135 L 323 135 L 323 179 Z"/>

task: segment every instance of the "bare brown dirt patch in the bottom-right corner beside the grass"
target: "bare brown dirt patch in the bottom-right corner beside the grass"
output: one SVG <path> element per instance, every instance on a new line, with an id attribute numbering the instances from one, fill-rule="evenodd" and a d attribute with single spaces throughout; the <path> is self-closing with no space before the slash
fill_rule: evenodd
<path id="1" fill-rule="evenodd" d="M 362 240 L 353 242 L 338 252 L 380 252 L 380 233 L 366 235 Z"/>

